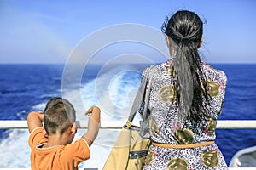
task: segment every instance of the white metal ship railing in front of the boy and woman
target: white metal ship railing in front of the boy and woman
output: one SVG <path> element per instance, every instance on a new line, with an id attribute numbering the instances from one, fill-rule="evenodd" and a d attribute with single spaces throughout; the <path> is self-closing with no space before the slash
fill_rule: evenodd
<path id="1" fill-rule="evenodd" d="M 77 122 L 79 128 L 87 128 L 87 121 Z M 100 128 L 121 129 L 125 122 L 108 121 L 101 122 Z M 135 123 L 136 125 L 136 123 Z M 0 129 L 22 129 L 27 128 L 26 121 L 0 121 Z M 221 129 L 256 129 L 256 120 L 220 120 L 217 128 Z M 0 170 L 29 170 L 30 168 L 0 168 Z M 256 170 L 256 167 L 230 167 L 230 170 Z M 80 168 L 79 170 L 97 170 L 97 168 Z"/>

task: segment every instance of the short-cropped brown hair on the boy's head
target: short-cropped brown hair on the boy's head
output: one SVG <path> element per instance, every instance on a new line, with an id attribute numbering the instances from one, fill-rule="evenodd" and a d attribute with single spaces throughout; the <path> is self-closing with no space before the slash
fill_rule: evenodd
<path id="1" fill-rule="evenodd" d="M 67 99 L 49 99 L 44 109 L 44 128 L 48 135 L 64 133 L 75 120 L 75 110 Z"/>

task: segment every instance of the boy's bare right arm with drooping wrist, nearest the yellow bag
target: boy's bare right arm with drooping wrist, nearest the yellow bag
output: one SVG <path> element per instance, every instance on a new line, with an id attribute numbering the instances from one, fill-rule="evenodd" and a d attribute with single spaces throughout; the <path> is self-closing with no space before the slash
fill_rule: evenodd
<path id="1" fill-rule="evenodd" d="M 87 144 L 90 146 L 93 141 L 96 139 L 96 136 L 99 132 L 100 123 L 101 123 L 101 110 L 100 108 L 94 106 L 91 107 L 88 111 L 86 111 L 85 115 L 90 115 L 89 121 L 88 121 L 88 130 L 84 135 L 82 136 L 83 139 L 87 142 Z"/>

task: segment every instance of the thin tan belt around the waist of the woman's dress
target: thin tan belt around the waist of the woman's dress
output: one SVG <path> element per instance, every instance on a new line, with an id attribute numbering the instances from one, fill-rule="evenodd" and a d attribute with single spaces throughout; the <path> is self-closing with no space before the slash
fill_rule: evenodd
<path id="1" fill-rule="evenodd" d="M 207 146 L 210 144 L 214 144 L 214 141 L 208 141 L 208 142 L 202 142 L 202 143 L 196 143 L 196 144 L 160 144 L 152 142 L 154 146 L 159 146 L 162 148 L 173 148 L 173 149 L 186 149 L 186 148 L 196 148 L 201 146 Z"/>

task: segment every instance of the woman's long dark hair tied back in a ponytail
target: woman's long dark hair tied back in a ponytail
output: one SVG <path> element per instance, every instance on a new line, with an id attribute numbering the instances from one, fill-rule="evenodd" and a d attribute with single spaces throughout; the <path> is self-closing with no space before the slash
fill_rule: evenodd
<path id="1" fill-rule="evenodd" d="M 202 37 L 202 21 L 193 12 L 178 11 L 170 20 L 166 19 L 162 31 L 170 37 L 176 52 L 171 73 L 177 75 L 174 88 L 180 118 L 200 121 L 207 116 L 204 102 L 211 98 L 205 90 L 206 76 L 197 50 Z"/>

